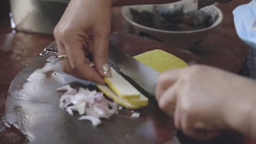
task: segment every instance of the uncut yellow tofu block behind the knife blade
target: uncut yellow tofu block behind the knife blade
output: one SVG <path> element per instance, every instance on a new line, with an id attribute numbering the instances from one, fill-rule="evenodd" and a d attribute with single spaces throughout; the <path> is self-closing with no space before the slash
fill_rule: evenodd
<path id="1" fill-rule="evenodd" d="M 159 73 L 170 69 L 184 68 L 188 66 L 188 64 L 182 59 L 162 50 L 144 52 L 140 55 L 134 56 L 134 58 L 155 69 Z"/>

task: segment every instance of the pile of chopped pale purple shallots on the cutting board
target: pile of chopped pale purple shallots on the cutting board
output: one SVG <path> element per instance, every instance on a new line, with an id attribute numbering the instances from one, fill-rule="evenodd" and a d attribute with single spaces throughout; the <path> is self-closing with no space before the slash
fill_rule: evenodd
<path id="1" fill-rule="evenodd" d="M 79 120 L 87 119 L 94 126 L 101 123 L 100 118 L 109 118 L 118 113 L 118 104 L 104 98 L 102 92 L 85 88 L 77 91 L 69 85 L 58 88 L 57 91 L 67 91 L 60 98 L 60 109 L 66 110 L 72 116 L 74 111 L 78 111 L 79 115 L 86 115 Z"/>

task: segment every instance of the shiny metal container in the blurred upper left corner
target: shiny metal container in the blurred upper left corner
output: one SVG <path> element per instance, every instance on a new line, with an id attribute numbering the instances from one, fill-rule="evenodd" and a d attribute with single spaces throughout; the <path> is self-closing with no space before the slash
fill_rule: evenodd
<path id="1" fill-rule="evenodd" d="M 10 0 L 12 27 L 19 31 L 53 34 L 69 0 Z"/>

